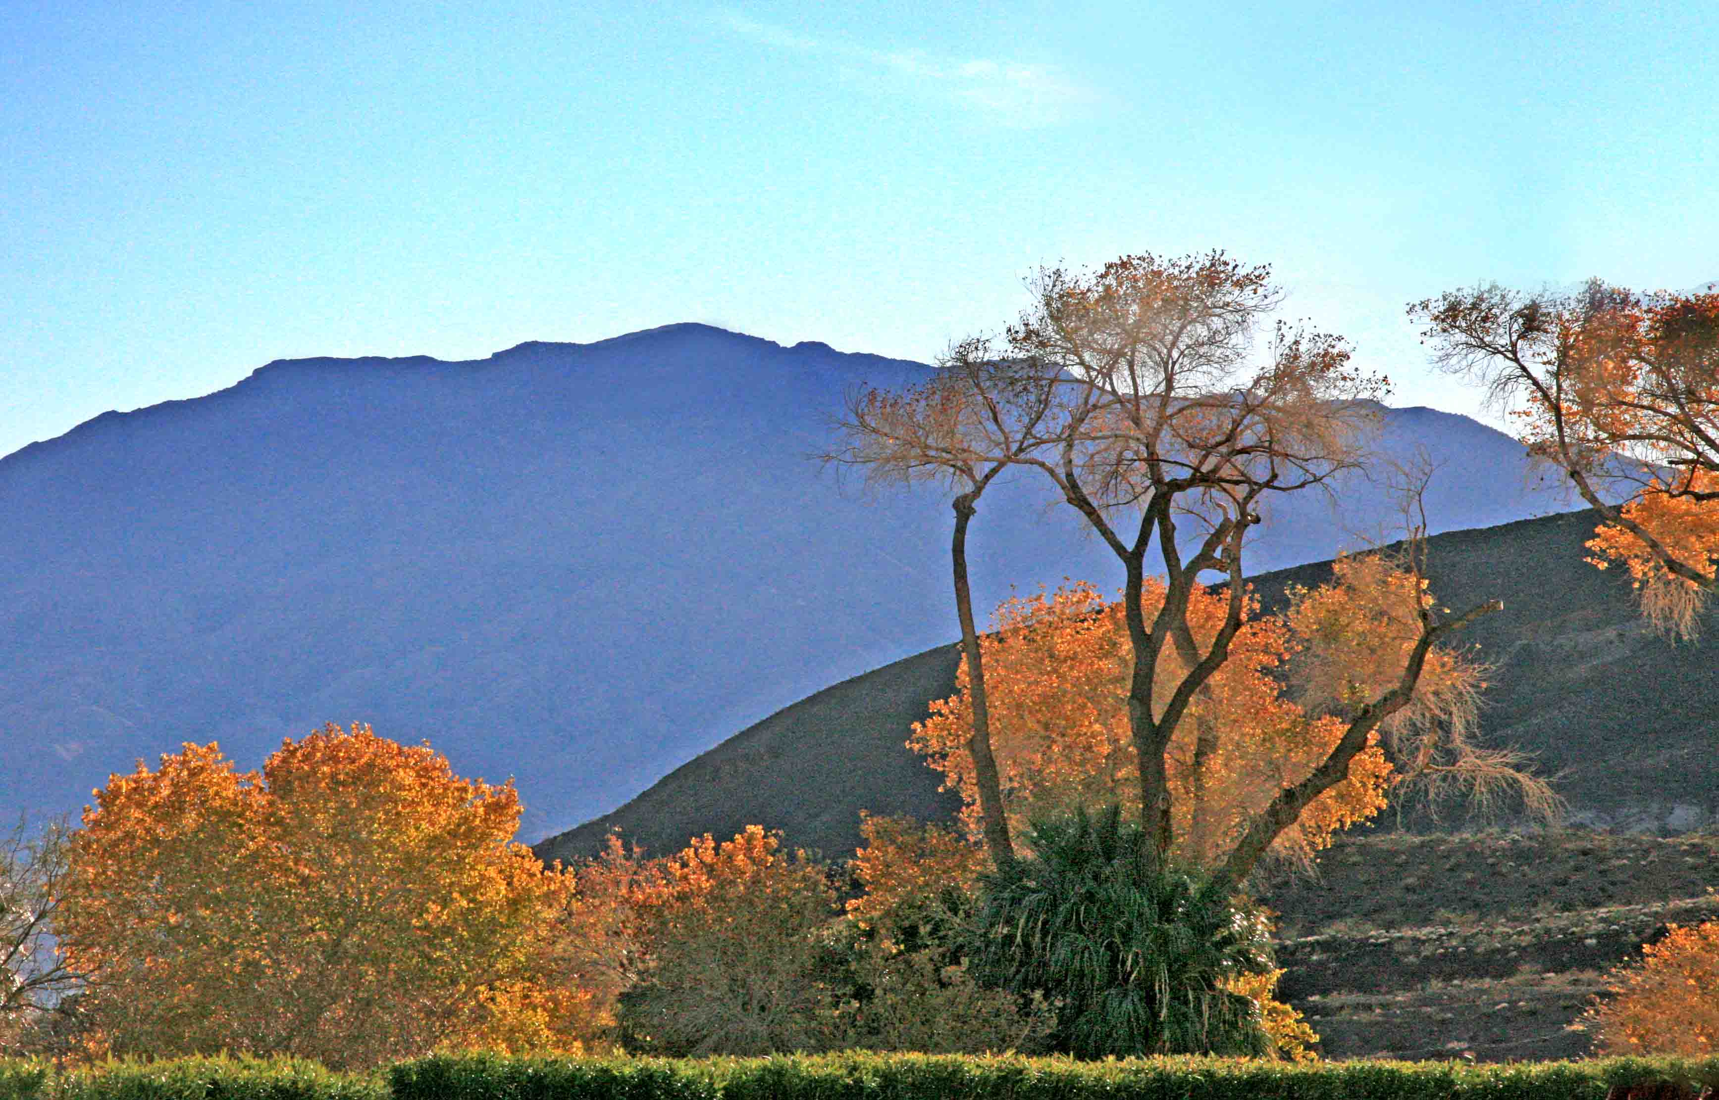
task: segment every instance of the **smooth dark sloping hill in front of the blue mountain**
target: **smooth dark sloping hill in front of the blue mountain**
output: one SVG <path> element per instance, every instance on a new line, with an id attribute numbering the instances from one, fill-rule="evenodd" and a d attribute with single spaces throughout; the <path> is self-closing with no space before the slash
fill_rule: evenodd
<path id="1" fill-rule="evenodd" d="M 1628 576 L 1583 560 L 1592 529 L 1590 512 L 1566 512 L 1430 540 L 1441 602 L 1504 600 L 1504 612 L 1463 638 L 1496 663 L 1483 736 L 1539 753 L 1542 770 L 1563 777 L 1576 823 L 1688 830 L 1719 820 L 1712 643 L 1673 645 L 1647 631 Z M 1255 586 L 1272 605 L 1288 584 L 1329 574 L 1322 562 L 1262 574 Z M 927 703 L 954 691 L 957 660 L 945 645 L 794 703 L 538 852 L 591 854 L 609 828 L 664 851 L 762 823 L 846 856 L 861 808 L 947 818 L 954 803 L 904 741 Z"/>

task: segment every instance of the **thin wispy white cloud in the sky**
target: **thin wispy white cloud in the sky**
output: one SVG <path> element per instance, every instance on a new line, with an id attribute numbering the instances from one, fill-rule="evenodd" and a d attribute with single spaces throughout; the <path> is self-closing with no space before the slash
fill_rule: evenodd
<path id="1" fill-rule="evenodd" d="M 1007 58 L 949 58 L 923 50 L 875 50 L 813 38 L 736 10 L 717 14 L 720 26 L 777 50 L 847 62 L 873 76 L 945 96 L 1006 125 L 1064 122 L 1098 103 L 1098 93 L 1055 65 Z"/>

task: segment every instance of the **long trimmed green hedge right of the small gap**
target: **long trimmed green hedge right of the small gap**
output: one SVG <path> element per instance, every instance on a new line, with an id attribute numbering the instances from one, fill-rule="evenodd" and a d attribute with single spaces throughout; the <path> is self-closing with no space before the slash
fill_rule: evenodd
<path id="1" fill-rule="evenodd" d="M 1719 1091 L 1719 1059 L 1263 1062 L 835 1054 L 770 1059 L 431 1057 L 388 1071 L 394 1100 L 1604 1100 L 1612 1085 Z"/>

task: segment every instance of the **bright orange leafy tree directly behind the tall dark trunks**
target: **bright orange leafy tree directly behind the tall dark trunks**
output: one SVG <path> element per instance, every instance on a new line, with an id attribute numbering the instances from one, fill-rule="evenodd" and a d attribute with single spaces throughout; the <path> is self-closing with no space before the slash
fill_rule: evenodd
<path id="1" fill-rule="evenodd" d="M 1148 579 L 1141 593 L 1148 620 L 1162 598 L 1162 583 Z M 1224 603 L 1222 593 L 1205 588 L 1191 596 L 1188 620 L 1202 651 L 1222 622 Z M 1135 803 L 1126 710 L 1131 655 L 1121 603 L 1105 603 L 1086 583 L 1014 598 L 997 610 L 997 632 L 985 636 L 983 646 L 1011 825 L 1080 804 Z M 1169 748 L 1178 856 L 1210 863 L 1227 851 L 1250 816 L 1312 772 L 1343 736 L 1343 722 L 1306 713 L 1274 679 L 1298 650 L 1288 622 L 1260 617 L 1250 605 L 1229 660 L 1195 700 Z M 1174 684 L 1184 674 L 1167 650 L 1159 675 Z M 966 691 L 963 665 L 956 694 L 932 703 L 932 717 L 915 724 L 908 744 L 944 772 L 945 787 L 964 801 L 963 825 L 978 835 Z M 1373 742 L 1356 756 L 1349 779 L 1308 806 L 1275 851 L 1305 856 L 1329 844 L 1334 832 L 1368 820 L 1386 804 L 1389 780 L 1391 765 Z"/>

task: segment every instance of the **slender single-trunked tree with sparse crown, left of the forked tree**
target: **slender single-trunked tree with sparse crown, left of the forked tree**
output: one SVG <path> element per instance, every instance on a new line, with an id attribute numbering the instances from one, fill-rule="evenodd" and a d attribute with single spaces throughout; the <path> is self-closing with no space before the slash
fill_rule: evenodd
<path id="1" fill-rule="evenodd" d="M 985 655 L 973 622 L 966 536 L 985 488 L 1011 464 L 1054 442 L 1057 382 L 1033 359 L 997 358 L 987 340 L 970 339 L 951 349 L 923 385 L 904 392 L 851 392 L 846 416 L 835 421 L 846 447 L 820 455 L 863 468 L 873 485 L 944 480 L 956 490 L 949 557 L 971 698 L 964 751 L 971 758 L 985 846 L 999 866 L 1014 859 L 1014 846 L 990 746 Z"/>

